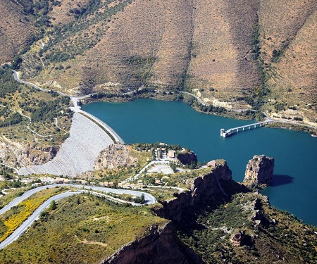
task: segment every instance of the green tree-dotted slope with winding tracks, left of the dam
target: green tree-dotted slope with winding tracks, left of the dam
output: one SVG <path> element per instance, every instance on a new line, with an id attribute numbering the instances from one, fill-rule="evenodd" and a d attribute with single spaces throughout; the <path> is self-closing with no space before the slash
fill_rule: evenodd
<path id="1" fill-rule="evenodd" d="M 26 156 L 41 157 L 48 150 L 51 157 L 56 154 L 69 136 L 72 113 L 68 107 L 68 97 L 20 84 L 11 70 L 0 69 L 0 141 L 13 148 L 30 147 Z M 2 160 L 18 165 L 13 151 Z"/>

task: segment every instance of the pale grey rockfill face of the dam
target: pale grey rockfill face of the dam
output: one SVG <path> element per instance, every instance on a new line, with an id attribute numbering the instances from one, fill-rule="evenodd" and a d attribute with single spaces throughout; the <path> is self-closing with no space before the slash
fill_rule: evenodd
<path id="1" fill-rule="evenodd" d="M 82 172 L 94 170 L 95 158 L 111 144 L 111 138 L 98 125 L 80 113 L 75 113 L 70 137 L 63 143 L 56 157 L 43 165 L 20 168 L 19 174 L 49 173 L 75 177 Z"/>

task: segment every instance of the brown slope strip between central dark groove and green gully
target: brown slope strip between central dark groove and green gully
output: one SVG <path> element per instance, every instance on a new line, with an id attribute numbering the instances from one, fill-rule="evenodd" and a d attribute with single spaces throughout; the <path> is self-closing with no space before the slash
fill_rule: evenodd
<path id="1" fill-rule="evenodd" d="M 204 89 L 202 97 L 228 100 L 242 88 L 259 85 L 251 56 L 255 25 L 256 1 L 198 1 L 187 88 Z"/>

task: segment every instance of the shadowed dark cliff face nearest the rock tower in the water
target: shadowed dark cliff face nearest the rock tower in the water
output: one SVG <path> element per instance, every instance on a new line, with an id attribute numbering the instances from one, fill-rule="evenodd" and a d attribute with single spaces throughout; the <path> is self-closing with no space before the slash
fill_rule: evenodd
<path id="1" fill-rule="evenodd" d="M 229 169 L 226 161 L 216 165 L 216 168 L 208 174 L 197 177 L 189 191 L 182 192 L 177 197 L 170 201 L 163 201 L 163 208 L 159 208 L 155 213 L 179 222 L 182 215 L 190 210 L 191 207 L 198 204 L 210 204 L 221 198 L 228 197 L 228 185 L 234 184 L 231 179 L 232 172 Z"/>

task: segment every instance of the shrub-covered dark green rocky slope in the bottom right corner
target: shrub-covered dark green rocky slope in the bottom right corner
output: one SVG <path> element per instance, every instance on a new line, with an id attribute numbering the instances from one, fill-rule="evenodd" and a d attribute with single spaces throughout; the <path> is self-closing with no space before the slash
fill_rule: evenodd
<path id="1" fill-rule="evenodd" d="M 261 222 L 251 220 L 256 211 Z M 206 263 L 316 263 L 316 230 L 263 196 L 244 193 L 216 208 L 195 208 L 177 233 Z M 240 231 L 246 237 L 241 246 L 232 243 Z"/>

